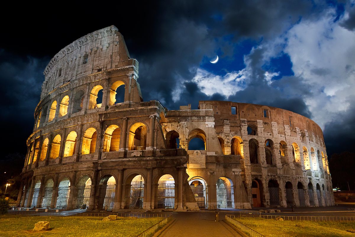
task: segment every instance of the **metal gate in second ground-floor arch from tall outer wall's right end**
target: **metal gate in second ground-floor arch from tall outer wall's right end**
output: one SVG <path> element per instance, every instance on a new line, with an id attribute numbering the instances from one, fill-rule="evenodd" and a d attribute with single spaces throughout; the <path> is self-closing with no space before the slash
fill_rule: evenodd
<path id="1" fill-rule="evenodd" d="M 144 197 L 144 184 L 131 184 L 126 187 L 126 208 L 142 209 Z"/>

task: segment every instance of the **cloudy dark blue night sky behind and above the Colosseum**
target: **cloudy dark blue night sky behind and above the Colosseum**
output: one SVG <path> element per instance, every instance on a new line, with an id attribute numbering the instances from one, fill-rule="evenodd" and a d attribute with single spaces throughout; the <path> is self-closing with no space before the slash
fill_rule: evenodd
<path id="1" fill-rule="evenodd" d="M 168 109 L 197 109 L 199 100 L 275 106 L 320 125 L 328 155 L 354 147 L 354 0 L 58 5 L 23 5 L 1 16 L 0 159 L 26 153 L 49 60 L 110 25 L 140 63 L 145 101 L 157 99 Z M 216 55 L 218 63 L 209 63 Z"/>

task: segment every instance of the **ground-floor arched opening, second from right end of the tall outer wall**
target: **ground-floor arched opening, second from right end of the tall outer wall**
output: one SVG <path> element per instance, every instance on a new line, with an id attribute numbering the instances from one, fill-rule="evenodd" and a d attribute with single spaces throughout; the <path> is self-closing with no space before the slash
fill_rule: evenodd
<path id="1" fill-rule="evenodd" d="M 135 174 L 133 174 L 135 175 Z M 126 184 L 126 206 L 127 209 L 142 209 L 144 199 L 144 178 L 140 174 L 133 177 L 131 183 Z"/>

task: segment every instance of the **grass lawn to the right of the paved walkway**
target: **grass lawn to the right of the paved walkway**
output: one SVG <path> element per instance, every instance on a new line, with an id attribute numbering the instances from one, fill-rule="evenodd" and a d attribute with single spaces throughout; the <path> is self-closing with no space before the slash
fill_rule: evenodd
<path id="1" fill-rule="evenodd" d="M 266 237 L 355 236 L 355 222 L 276 221 L 262 218 L 235 218 Z"/>

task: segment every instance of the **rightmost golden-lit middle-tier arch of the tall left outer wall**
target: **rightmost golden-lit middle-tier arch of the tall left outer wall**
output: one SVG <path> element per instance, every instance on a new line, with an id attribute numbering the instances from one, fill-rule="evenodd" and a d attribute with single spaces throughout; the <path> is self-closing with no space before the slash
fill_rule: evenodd
<path id="1" fill-rule="evenodd" d="M 144 123 L 135 123 L 131 126 L 129 150 L 146 150 L 147 145 L 147 127 Z"/>

